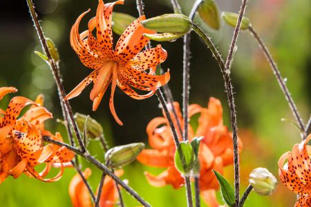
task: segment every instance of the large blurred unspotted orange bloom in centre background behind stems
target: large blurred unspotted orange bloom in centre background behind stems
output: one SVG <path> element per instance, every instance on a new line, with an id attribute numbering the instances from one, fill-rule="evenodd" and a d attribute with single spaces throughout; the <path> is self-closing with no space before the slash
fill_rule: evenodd
<path id="1" fill-rule="evenodd" d="M 176 111 L 177 119 L 172 110 L 170 110 L 170 114 L 181 139 L 184 120 L 177 102 L 173 103 L 173 108 Z M 188 108 L 189 118 L 200 113 L 199 126 L 196 132 L 190 125 L 188 127 L 188 139 L 191 141 L 194 137 L 204 137 L 198 153 L 200 162 L 199 184 L 202 196 L 207 198 L 205 200 L 209 201 L 211 206 L 218 204 L 215 190 L 219 188 L 218 181 L 212 170 L 223 173 L 223 167 L 233 163 L 232 134 L 227 130 L 227 127 L 223 126 L 222 111 L 220 101 L 215 98 L 209 99 L 208 108 L 202 108 L 198 104 L 191 104 Z M 164 117 L 156 117 L 149 122 L 147 134 L 149 145 L 153 149 L 143 150 L 138 156 L 138 161 L 147 166 L 167 168 L 160 175 L 151 175 L 149 172 L 145 172 L 147 180 L 153 186 L 161 187 L 171 184 L 173 188 L 180 188 L 185 184 L 185 179 L 174 166 L 176 146 L 165 115 Z M 242 143 L 240 139 L 238 139 L 238 144 L 241 151 Z"/>

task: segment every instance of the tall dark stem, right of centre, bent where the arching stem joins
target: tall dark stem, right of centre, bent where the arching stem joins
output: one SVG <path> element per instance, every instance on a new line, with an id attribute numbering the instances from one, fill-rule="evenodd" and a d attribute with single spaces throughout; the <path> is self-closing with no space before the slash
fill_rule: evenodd
<path id="1" fill-rule="evenodd" d="M 238 33 L 241 29 L 242 18 L 244 16 L 247 0 L 242 1 L 240 11 L 238 12 L 238 22 L 236 23 L 236 28 L 234 29 L 234 35 L 232 37 L 232 42 L 229 47 L 229 54 L 225 63 L 225 86 L 227 90 L 227 99 L 229 102 L 231 126 L 232 126 L 232 140 L 234 148 L 234 188 L 236 193 L 236 206 L 238 206 L 238 201 L 240 199 L 240 164 L 238 156 L 238 126 L 236 124 L 236 109 L 234 103 L 234 95 L 232 90 L 232 83 L 230 79 L 230 68 L 234 58 L 234 51 L 236 48 L 236 41 L 238 39 Z"/>

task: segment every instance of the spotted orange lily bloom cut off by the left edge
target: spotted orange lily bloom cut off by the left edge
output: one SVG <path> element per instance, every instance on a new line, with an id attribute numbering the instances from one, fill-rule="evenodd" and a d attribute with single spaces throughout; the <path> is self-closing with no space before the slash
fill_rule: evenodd
<path id="1" fill-rule="evenodd" d="M 0 88 L 0 98 L 8 92 L 16 92 L 13 87 Z M 19 117 L 21 110 L 29 105 L 30 108 L 22 117 Z M 50 179 L 44 179 L 50 170 L 52 163 L 70 161 L 73 153 L 64 149 L 59 150 L 52 144 L 42 146 L 42 133 L 39 128 L 43 126 L 46 119 L 52 118 L 52 114 L 37 103 L 25 97 L 13 97 L 6 111 L 1 110 L 0 121 L 0 183 L 6 177 L 12 175 L 17 178 L 25 172 L 29 177 L 35 177 L 42 181 L 57 181 L 62 177 L 62 168 L 58 175 Z M 52 135 L 53 136 L 53 135 Z M 59 137 L 60 135 L 57 135 Z M 59 139 L 54 137 L 52 139 Z M 64 152 L 66 156 L 64 156 Z M 38 173 L 34 167 L 41 163 L 48 163 L 46 168 Z"/>

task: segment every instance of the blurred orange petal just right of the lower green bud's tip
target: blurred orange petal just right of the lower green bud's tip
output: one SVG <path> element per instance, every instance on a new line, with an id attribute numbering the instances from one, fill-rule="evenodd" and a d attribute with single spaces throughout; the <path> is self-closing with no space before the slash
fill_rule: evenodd
<path id="1" fill-rule="evenodd" d="M 170 158 L 167 155 L 167 150 L 142 150 L 137 157 L 142 164 L 158 168 L 171 166 L 173 160 L 170 160 Z"/>

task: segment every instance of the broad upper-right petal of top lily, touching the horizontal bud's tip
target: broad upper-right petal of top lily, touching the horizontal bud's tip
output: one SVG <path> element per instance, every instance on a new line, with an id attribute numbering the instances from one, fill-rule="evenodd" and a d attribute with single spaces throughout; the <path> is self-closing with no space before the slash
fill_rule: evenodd
<path id="1" fill-rule="evenodd" d="M 140 21 L 145 20 L 144 15 L 135 19 L 133 23 L 129 25 L 128 28 L 123 32 L 120 39 L 117 41 L 117 45 L 115 46 L 115 52 L 120 60 L 127 63 L 130 61 L 135 55 L 144 48 L 144 46 L 148 43 L 149 39 L 144 37 L 144 33 L 154 34 L 155 32 L 151 30 L 147 30 L 144 28 Z"/>

